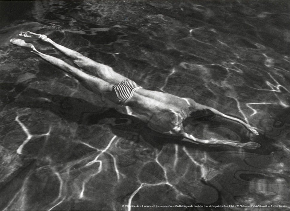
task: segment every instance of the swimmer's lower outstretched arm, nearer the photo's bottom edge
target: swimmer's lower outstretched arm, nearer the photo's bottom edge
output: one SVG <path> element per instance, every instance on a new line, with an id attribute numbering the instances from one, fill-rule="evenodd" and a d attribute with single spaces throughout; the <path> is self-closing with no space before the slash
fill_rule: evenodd
<path id="1" fill-rule="evenodd" d="M 233 141 L 229 141 L 229 140 L 203 140 L 203 139 L 199 139 L 199 138 L 195 138 L 193 137 L 193 135 L 187 134 L 185 132 L 181 133 L 181 135 L 183 135 L 183 141 L 188 141 L 191 143 L 195 143 L 195 144 L 209 144 L 209 145 L 229 145 L 229 146 L 233 146 L 233 147 L 238 147 L 238 148 L 245 148 L 245 149 L 257 149 L 258 147 L 260 147 L 260 144 L 250 141 L 247 143 L 237 143 L 237 142 L 233 142 Z"/>

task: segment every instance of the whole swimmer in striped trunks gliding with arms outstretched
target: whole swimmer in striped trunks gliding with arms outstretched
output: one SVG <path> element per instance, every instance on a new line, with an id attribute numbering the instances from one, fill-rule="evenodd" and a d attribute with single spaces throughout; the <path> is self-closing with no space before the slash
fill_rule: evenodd
<path id="1" fill-rule="evenodd" d="M 111 107 L 116 108 L 120 113 L 139 118 L 146 122 L 152 130 L 163 134 L 182 136 L 184 141 L 196 144 L 225 144 L 247 149 L 260 147 L 260 144 L 252 141 L 238 143 L 231 140 L 204 140 L 193 137 L 193 135 L 185 133 L 182 122 L 184 119 L 190 118 L 191 113 L 204 109 L 209 109 L 216 115 L 237 121 L 256 135 L 259 133 L 254 127 L 244 121 L 225 115 L 214 108 L 199 104 L 191 98 L 180 98 L 168 93 L 146 90 L 129 78 L 116 73 L 111 67 L 100 64 L 74 50 L 59 45 L 45 35 L 28 31 L 20 33 L 19 36 L 42 40 L 71 58 L 81 69 L 69 65 L 59 58 L 39 52 L 33 44 L 26 43 L 22 39 L 10 40 L 12 44 L 29 50 L 45 61 L 69 73 L 91 92 L 101 93 L 107 99 L 107 102 L 111 104 Z M 89 74 L 82 70 L 87 71 Z"/>

